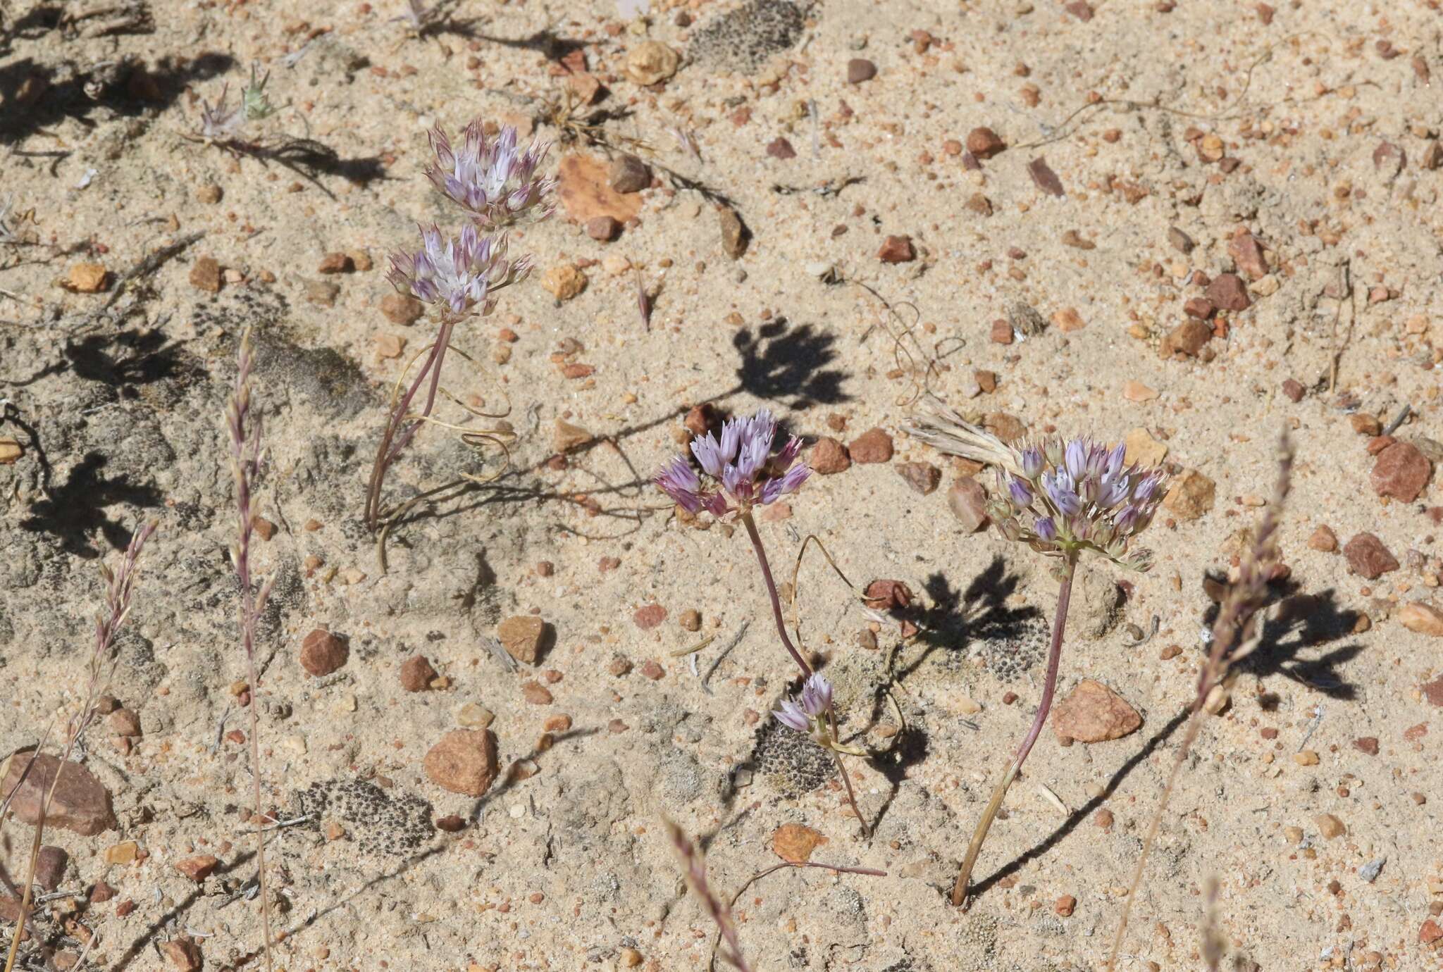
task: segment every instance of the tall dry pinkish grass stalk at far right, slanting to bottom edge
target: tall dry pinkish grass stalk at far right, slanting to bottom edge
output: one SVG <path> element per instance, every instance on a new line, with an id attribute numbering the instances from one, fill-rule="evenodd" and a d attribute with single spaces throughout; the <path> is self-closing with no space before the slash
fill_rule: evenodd
<path id="1" fill-rule="evenodd" d="M 1147 825 L 1147 836 L 1143 838 L 1143 849 L 1137 857 L 1137 865 L 1133 868 L 1133 880 L 1127 888 L 1127 901 L 1123 904 L 1123 916 L 1117 922 L 1117 932 L 1113 936 L 1113 950 L 1107 959 L 1108 972 L 1117 968 L 1123 939 L 1127 936 L 1127 920 L 1133 910 L 1133 900 L 1143 880 L 1143 868 L 1147 867 L 1147 855 L 1157 839 L 1157 828 L 1167 812 L 1167 800 L 1172 798 L 1182 766 L 1188 760 L 1188 753 L 1192 751 L 1192 744 L 1198 738 L 1198 733 L 1202 730 L 1208 697 L 1214 688 L 1224 682 L 1228 669 L 1257 648 L 1257 632 L 1261 626 L 1255 624 L 1255 616 L 1267 600 L 1267 584 L 1280 562 L 1277 528 L 1281 522 L 1283 505 L 1287 502 L 1287 493 L 1291 487 L 1291 477 L 1293 444 L 1284 433 L 1283 441 L 1278 446 L 1277 489 L 1273 493 L 1273 502 L 1263 515 L 1263 521 L 1258 523 L 1253 548 L 1242 560 L 1237 580 L 1228 584 L 1227 594 L 1218 611 L 1218 620 L 1212 624 L 1212 648 L 1208 652 L 1206 663 L 1202 666 L 1202 673 L 1198 675 L 1198 691 L 1193 695 L 1192 714 L 1188 717 L 1188 727 L 1183 731 L 1182 743 L 1177 746 L 1177 757 L 1173 760 L 1172 772 L 1167 774 L 1167 785 L 1163 787 L 1162 800 L 1159 800 L 1157 810 Z"/>

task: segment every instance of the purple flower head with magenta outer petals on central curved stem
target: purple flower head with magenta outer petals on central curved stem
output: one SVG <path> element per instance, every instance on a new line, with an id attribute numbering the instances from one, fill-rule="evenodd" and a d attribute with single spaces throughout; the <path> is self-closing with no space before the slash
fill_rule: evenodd
<path id="1" fill-rule="evenodd" d="M 792 436 L 773 456 L 775 437 L 776 420 L 765 408 L 747 418 L 727 420 L 720 440 L 710 433 L 691 440 L 691 453 L 701 470 L 720 483 L 720 489 L 706 489 L 684 456 L 664 466 L 655 483 L 688 513 L 706 509 L 722 516 L 765 506 L 797 492 L 811 474 L 807 463 L 797 461 L 802 441 Z"/>

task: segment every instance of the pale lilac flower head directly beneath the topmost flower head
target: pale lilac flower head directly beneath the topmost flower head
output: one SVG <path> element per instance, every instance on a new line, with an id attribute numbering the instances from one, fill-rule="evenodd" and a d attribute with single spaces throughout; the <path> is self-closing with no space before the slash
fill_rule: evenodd
<path id="1" fill-rule="evenodd" d="M 488 293 L 525 277 L 528 257 L 506 260 L 505 237 L 483 237 L 476 226 L 466 226 L 459 238 L 442 237 L 437 226 L 421 226 L 421 249 L 391 254 L 385 275 L 405 294 L 426 303 L 444 303 L 453 313 L 481 306 L 491 313 L 495 300 Z"/>

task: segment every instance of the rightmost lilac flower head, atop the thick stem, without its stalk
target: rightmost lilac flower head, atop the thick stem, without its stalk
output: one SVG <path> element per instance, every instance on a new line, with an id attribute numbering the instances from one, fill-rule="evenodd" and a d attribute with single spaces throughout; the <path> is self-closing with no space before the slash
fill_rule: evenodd
<path id="1" fill-rule="evenodd" d="M 999 470 L 988 515 L 1009 539 L 1040 552 L 1092 549 L 1147 570 L 1152 552 L 1130 544 L 1152 522 L 1167 474 L 1124 466 L 1126 453 L 1121 443 L 1110 450 L 1088 438 L 1027 446 L 1017 456 L 1019 473 Z"/>

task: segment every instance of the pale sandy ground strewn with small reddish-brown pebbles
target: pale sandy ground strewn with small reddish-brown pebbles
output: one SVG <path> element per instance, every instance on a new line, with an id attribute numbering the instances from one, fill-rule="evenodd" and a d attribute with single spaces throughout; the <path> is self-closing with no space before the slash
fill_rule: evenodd
<path id="1" fill-rule="evenodd" d="M 102 721 L 82 754 L 115 825 L 46 832 L 74 894 L 42 904 L 52 952 L 32 968 L 65 968 L 89 933 L 104 969 L 183 968 L 163 946 L 186 937 L 205 968 L 229 968 L 258 943 L 258 900 L 237 900 L 254 860 L 221 427 L 247 329 L 276 528 L 257 548 L 277 578 L 261 627 L 267 800 L 291 819 L 315 809 L 307 787 L 330 795 L 273 835 L 277 968 L 703 969 L 713 926 L 662 818 L 706 842 L 727 894 L 778 862 L 784 823 L 825 838 L 814 861 L 887 872 L 785 870 L 749 887 L 736 909 L 758 969 L 1101 968 L 1192 698 L 1203 575 L 1245 544 L 1283 427 L 1299 450 L 1287 600 L 1202 733 L 1118 968 L 1203 968 L 1212 878 L 1224 968 L 1439 968 L 1443 686 L 1424 685 L 1443 640 L 1405 610 L 1443 606 L 1427 479 L 1443 460 L 1439 12 L 1276 6 L 694 1 L 628 20 L 602 3 L 463 0 L 416 36 L 392 0 L 9 0 L 6 753 L 78 698 L 100 558 L 160 523 L 113 685 L 141 734 Z M 638 71 L 668 68 L 646 42 L 681 58 L 641 87 Z M 198 138 L 201 100 L 228 84 L 234 104 L 251 63 L 276 114 L 247 123 L 240 153 Z M 596 102 L 557 124 L 569 91 Z M 478 115 L 560 140 L 548 166 L 595 160 L 571 163 L 576 198 L 620 151 L 654 182 L 514 237 L 538 271 L 460 330 L 475 363 L 446 365 L 463 401 L 509 405 L 509 466 L 426 430 L 391 502 L 501 479 L 418 505 L 382 571 L 365 482 L 390 385 L 430 335 L 382 312 L 385 254 L 414 245 L 417 221 L 460 225 L 421 176 L 424 133 Z M 746 226 L 739 258 L 719 206 Z M 610 242 L 582 224 L 599 213 L 625 224 Z M 322 273 L 328 254 L 354 270 Z M 548 291 L 577 273 L 580 294 Z M 1205 294 L 1224 309 L 1179 330 Z M 1061 692 L 1097 679 L 1141 727 L 1094 744 L 1043 734 L 967 913 L 945 893 L 1035 711 L 1056 583 L 954 515 L 968 470 L 902 431 L 925 391 L 1000 431 L 1127 437 L 1205 477 L 1205 502 L 1149 531 L 1153 571 L 1094 564 L 1072 614 Z M 703 402 L 765 404 L 810 441 L 876 427 L 895 443 L 762 522 L 788 583 L 817 535 L 856 588 L 808 551 L 802 637 L 844 728 L 877 753 L 848 761 L 870 839 L 815 753 L 763 730 L 789 665 L 745 534 L 697 529 L 645 482 Z M 558 420 L 589 437 L 564 457 Z M 1421 457 L 1421 492 L 1375 470 L 1380 425 L 1414 450 L 1408 469 Z M 939 487 L 919 492 L 931 473 L 905 463 L 935 466 Z M 1342 552 L 1361 532 L 1392 560 L 1371 580 L 1358 548 Z M 869 614 L 856 594 L 874 580 L 911 588 L 905 616 Z M 509 671 L 488 646 L 525 614 L 554 643 Z M 299 662 L 317 627 L 349 645 L 325 678 Z M 439 688 L 403 688 L 416 655 Z M 488 718 L 501 779 L 479 800 L 443 790 L 424 754 Z M 449 815 L 463 829 L 433 832 Z M 10 874 L 32 834 L 6 822 Z M 126 841 L 136 860 L 110 862 Z M 176 868 L 198 854 L 218 858 L 199 883 Z M 100 881 L 114 897 L 91 901 Z"/>

